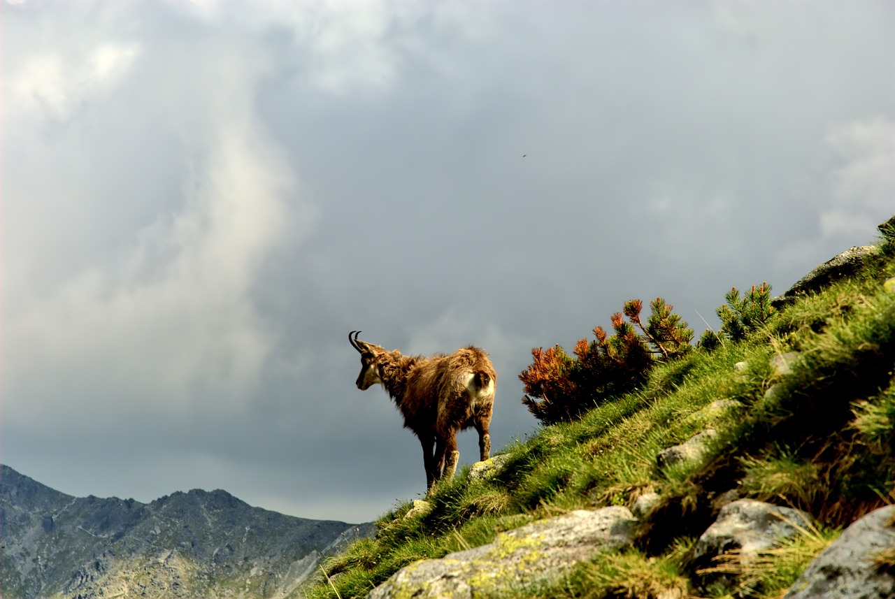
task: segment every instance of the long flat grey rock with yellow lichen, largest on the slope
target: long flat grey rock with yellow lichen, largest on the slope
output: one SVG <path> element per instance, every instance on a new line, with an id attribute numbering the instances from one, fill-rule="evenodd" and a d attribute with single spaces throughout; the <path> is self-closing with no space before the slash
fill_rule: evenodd
<path id="1" fill-rule="evenodd" d="M 581 561 L 631 544 L 635 522 L 620 506 L 575 510 L 499 533 L 491 544 L 412 563 L 367 597 L 513 596 L 514 589 L 556 581 Z"/>

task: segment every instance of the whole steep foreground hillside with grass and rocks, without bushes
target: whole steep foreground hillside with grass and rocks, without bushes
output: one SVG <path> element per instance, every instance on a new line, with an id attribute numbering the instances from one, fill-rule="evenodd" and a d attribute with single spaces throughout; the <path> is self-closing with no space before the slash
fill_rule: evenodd
<path id="1" fill-rule="evenodd" d="M 895 596 L 895 218 L 880 231 L 398 506 L 291 596 Z"/>

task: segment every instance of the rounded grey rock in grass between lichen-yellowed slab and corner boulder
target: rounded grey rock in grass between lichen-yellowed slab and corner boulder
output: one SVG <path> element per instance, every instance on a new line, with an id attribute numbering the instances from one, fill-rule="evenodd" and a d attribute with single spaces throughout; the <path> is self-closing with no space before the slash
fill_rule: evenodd
<path id="1" fill-rule="evenodd" d="M 738 552 L 737 561 L 748 563 L 765 549 L 796 536 L 798 529 L 810 526 L 804 511 L 784 508 L 754 499 L 739 499 L 721 508 L 718 519 L 696 541 L 695 570 L 717 566 L 714 560 L 725 553 Z M 703 586 L 727 581 L 723 575 L 706 573 Z"/>

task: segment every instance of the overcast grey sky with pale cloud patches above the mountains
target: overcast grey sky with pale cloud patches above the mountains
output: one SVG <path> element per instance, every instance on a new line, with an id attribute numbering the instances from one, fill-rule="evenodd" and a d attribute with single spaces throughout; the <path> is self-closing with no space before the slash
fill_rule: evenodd
<path id="1" fill-rule="evenodd" d="M 533 347 L 873 241 L 893 7 L 6 0 L 0 460 L 375 519 L 422 452 L 349 331 L 488 350 L 498 451 Z"/>

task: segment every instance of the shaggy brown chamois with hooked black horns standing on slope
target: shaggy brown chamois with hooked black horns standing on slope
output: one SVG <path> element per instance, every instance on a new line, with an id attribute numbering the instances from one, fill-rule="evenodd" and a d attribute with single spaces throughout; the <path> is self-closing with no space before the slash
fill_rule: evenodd
<path id="1" fill-rule="evenodd" d="M 357 338 L 360 333 L 348 333 L 348 341 L 361 354 L 357 388 L 365 391 L 381 384 L 395 400 L 405 428 L 422 444 L 427 493 L 440 478 L 454 477 L 460 458 L 456 449 L 459 431 L 475 426 L 482 460 L 488 460 L 488 426 L 498 375 L 484 350 L 471 345 L 449 356 L 404 356 L 400 350 L 386 351 L 361 341 Z"/>

